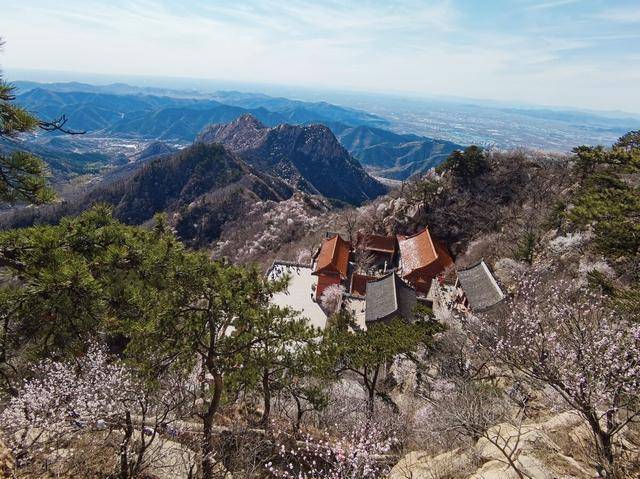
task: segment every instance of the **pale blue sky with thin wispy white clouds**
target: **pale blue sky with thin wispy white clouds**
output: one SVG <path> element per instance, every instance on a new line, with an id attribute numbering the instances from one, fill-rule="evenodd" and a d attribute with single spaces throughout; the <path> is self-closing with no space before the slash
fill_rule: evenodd
<path id="1" fill-rule="evenodd" d="M 0 12 L 8 71 L 640 113 L 640 0 L 0 0 Z"/>

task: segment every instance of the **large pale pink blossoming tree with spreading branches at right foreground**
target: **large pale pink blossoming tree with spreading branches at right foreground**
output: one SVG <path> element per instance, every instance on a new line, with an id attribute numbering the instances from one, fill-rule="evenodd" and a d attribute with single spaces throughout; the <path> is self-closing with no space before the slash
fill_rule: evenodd
<path id="1" fill-rule="evenodd" d="M 497 358 L 577 410 L 601 468 L 615 471 L 615 439 L 640 417 L 640 325 L 567 282 L 545 287 L 529 278 L 495 326 Z"/>

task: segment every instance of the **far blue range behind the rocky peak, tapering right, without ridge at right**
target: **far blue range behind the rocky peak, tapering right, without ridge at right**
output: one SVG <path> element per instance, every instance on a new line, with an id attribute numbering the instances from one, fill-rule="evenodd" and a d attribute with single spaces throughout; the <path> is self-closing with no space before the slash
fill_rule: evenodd
<path id="1" fill-rule="evenodd" d="M 69 128 L 96 135 L 190 142 L 206 125 L 226 123 L 245 113 L 267 125 L 340 122 L 381 126 L 386 123 L 375 115 L 325 102 L 238 92 L 219 92 L 212 98 L 202 99 L 114 94 L 91 88 L 66 91 L 61 88 L 64 84 L 54 84 L 54 89 L 48 85 L 27 85 L 32 88 L 25 89 L 24 82 L 17 84 L 22 92 L 16 99 L 19 104 L 45 119 L 56 118 L 63 112 L 69 118 Z"/>

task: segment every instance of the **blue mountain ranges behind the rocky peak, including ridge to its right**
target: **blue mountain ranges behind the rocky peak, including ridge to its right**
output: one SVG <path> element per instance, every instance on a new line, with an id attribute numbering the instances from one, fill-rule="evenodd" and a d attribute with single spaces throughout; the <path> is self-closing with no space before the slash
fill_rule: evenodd
<path id="1" fill-rule="evenodd" d="M 460 146 L 417 135 L 400 135 L 367 112 L 326 102 L 303 102 L 234 91 L 202 94 L 83 83 L 17 82 L 17 101 L 45 119 L 64 113 L 67 127 L 91 137 L 191 143 L 211 124 L 250 114 L 266 126 L 324 124 L 372 174 L 403 180 L 441 162 Z M 150 94 L 156 93 L 156 94 Z M 81 141 L 81 140 L 78 140 Z M 56 153 L 57 154 L 57 153 Z M 55 156 L 55 155 L 54 155 Z M 47 155 L 43 155 L 48 160 Z"/>

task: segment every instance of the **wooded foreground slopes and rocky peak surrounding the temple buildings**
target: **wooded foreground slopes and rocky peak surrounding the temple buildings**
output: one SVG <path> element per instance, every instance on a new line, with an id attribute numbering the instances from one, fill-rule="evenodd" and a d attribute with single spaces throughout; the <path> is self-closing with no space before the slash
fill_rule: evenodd
<path id="1" fill-rule="evenodd" d="M 0 137 L 61 132 L 4 84 L 0 108 Z M 470 146 L 384 195 L 323 126 L 243 117 L 201 140 L 0 233 L 3 475 L 638 477 L 640 132 L 570 155 Z M 37 158 L 2 159 L 5 204 L 54 200 Z M 453 264 L 425 296 L 385 260 L 376 291 L 392 278 L 410 312 L 363 321 L 339 269 L 319 299 L 289 289 L 339 244 L 367 274 L 361 237 L 397 241 L 402 270 L 414 233 Z M 292 274 L 265 275 L 276 259 Z"/>

